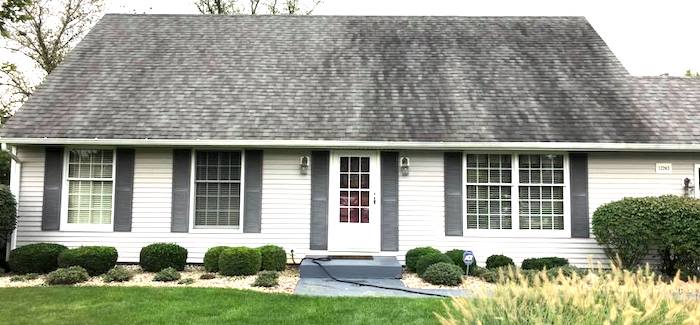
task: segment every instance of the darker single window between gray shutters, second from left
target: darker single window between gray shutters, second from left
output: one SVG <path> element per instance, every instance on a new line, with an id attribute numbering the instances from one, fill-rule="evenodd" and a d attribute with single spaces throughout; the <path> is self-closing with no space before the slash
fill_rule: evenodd
<path id="1" fill-rule="evenodd" d="M 195 228 L 235 228 L 241 221 L 241 152 L 197 151 Z"/>

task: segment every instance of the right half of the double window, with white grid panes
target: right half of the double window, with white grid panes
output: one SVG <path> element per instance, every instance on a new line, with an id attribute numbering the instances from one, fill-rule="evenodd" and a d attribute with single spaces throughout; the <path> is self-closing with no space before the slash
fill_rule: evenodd
<path id="1" fill-rule="evenodd" d="M 564 156 L 518 156 L 520 229 L 564 229 Z"/>

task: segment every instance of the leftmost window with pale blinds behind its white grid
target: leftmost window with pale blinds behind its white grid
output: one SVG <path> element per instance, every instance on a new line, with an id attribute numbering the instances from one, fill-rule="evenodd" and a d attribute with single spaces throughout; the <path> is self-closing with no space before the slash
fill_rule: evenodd
<path id="1" fill-rule="evenodd" d="M 68 152 L 68 224 L 111 224 L 114 151 Z"/>

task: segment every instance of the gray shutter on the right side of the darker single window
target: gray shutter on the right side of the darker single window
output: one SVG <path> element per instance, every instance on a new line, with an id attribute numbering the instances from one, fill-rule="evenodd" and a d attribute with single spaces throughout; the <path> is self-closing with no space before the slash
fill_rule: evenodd
<path id="1" fill-rule="evenodd" d="M 243 232 L 260 232 L 260 215 L 262 213 L 262 164 L 262 150 L 245 151 Z"/>

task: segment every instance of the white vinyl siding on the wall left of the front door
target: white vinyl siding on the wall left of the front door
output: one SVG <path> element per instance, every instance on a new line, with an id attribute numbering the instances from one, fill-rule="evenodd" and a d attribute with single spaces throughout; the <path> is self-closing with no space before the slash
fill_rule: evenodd
<path id="1" fill-rule="evenodd" d="M 17 245 L 51 242 L 69 247 L 114 246 L 119 262 L 138 262 L 143 246 L 172 242 L 188 250 L 189 263 L 201 263 L 213 246 L 259 247 L 273 244 L 294 250 L 297 262 L 309 252 L 311 177 L 300 175 L 299 157 L 305 150 L 265 150 L 260 233 L 173 233 L 171 226 L 172 149 L 137 148 L 131 232 L 41 230 L 44 149 L 20 147 L 22 182 Z M 291 262 L 291 260 L 290 260 Z"/>

